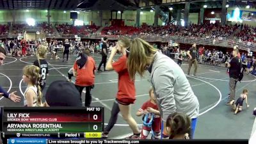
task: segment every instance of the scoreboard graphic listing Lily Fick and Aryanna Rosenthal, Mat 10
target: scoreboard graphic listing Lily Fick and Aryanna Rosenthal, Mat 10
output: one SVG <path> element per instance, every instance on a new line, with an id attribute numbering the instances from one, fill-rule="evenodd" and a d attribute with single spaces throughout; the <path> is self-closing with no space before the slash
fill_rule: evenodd
<path id="1" fill-rule="evenodd" d="M 8 108 L 0 110 L 2 138 L 101 138 L 104 109 Z"/>

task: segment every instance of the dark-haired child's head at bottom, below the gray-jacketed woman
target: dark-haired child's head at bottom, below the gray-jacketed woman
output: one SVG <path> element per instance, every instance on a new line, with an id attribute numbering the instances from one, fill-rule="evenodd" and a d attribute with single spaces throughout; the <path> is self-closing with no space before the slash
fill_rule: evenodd
<path id="1" fill-rule="evenodd" d="M 169 139 L 189 139 L 191 118 L 183 113 L 173 113 L 166 120 L 166 131 Z"/>

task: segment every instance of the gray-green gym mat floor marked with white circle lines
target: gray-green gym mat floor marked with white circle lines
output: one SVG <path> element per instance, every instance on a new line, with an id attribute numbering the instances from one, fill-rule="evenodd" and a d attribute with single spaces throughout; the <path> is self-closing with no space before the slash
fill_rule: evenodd
<path id="1" fill-rule="evenodd" d="M 115 56 L 117 59 L 119 56 Z M 50 60 L 49 76 L 47 77 L 47 85 L 56 80 L 66 80 L 67 72 L 72 67 L 75 56 L 70 56 L 70 60 L 62 62 L 61 60 Z M 99 65 L 101 56 L 93 55 L 97 65 Z M 17 94 L 22 96 L 26 90 L 26 85 L 22 83 L 22 68 L 36 60 L 36 57 L 7 57 L 4 65 L 0 67 L 0 85 L 8 92 L 17 91 Z M 187 73 L 188 64 L 182 65 L 184 73 Z M 198 65 L 198 74 L 196 77 L 188 76 L 189 83 L 193 88 L 193 92 L 198 97 L 200 103 L 200 116 L 196 127 L 196 139 L 248 139 L 253 127 L 255 116 L 252 115 L 253 108 L 256 103 L 256 77 L 244 74 L 243 81 L 237 83 L 236 99 L 244 88 L 249 90 L 248 103 L 250 108 L 245 108 L 241 113 L 234 115 L 230 106 L 226 106 L 228 88 L 227 68 L 214 67 L 208 65 Z M 191 68 L 193 74 L 193 67 Z M 108 123 L 111 108 L 117 92 L 116 72 L 100 72 L 95 76 L 95 88 L 92 90 L 93 102 L 92 106 L 104 107 L 104 122 Z M 74 80 L 74 79 L 73 79 Z M 146 77 L 136 77 L 136 103 L 132 106 L 131 113 L 141 127 L 141 117 L 135 115 L 136 111 L 142 106 L 143 102 L 149 99 L 148 75 Z M 45 88 L 47 89 L 47 87 Z M 45 93 L 44 90 L 43 93 Z M 84 93 L 83 93 L 84 95 Z M 84 96 L 83 96 L 84 100 Z M 245 103 L 245 102 L 244 102 Z M 14 103 L 8 99 L 0 98 L 0 106 L 19 107 L 23 106 L 23 97 L 21 102 Z M 122 129 L 122 131 L 120 131 Z M 109 133 L 109 138 L 124 138 L 131 134 L 131 129 L 122 120 L 122 116 L 118 116 L 118 121 Z"/>

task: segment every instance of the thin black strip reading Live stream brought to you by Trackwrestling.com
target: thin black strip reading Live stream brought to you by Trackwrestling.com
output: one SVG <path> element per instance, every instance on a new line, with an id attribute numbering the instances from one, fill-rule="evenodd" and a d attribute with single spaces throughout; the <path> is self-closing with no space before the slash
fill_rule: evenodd
<path id="1" fill-rule="evenodd" d="M 10 138 L 7 140 L 8 144 L 29 144 L 29 143 L 38 143 L 38 144 L 51 144 L 51 143 L 79 143 L 79 144 L 105 144 L 105 143 L 195 143 L 195 144 L 205 144 L 205 143 L 230 143 L 230 144 L 248 144 L 248 140 L 109 140 L 109 139 L 97 139 L 97 140 L 90 140 L 90 139 L 44 139 L 44 138 Z"/>

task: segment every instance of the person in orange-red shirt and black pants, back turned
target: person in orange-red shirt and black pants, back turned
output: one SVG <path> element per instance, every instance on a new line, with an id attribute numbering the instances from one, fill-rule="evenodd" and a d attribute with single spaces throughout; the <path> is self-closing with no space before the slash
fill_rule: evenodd
<path id="1" fill-rule="evenodd" d="M 90 56 L 90 51 L 85 49 L 79 54 L 74 63 L 73 74 L 76 77 L 76 88 L 82 96 L 83 89 L 86 88 L 84 106 L 89 107 L 92 102 L 91 89 L 95 81 L 95 61 Z"/>

